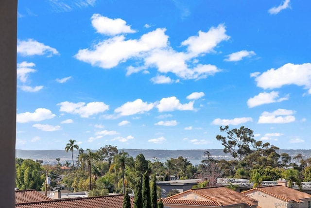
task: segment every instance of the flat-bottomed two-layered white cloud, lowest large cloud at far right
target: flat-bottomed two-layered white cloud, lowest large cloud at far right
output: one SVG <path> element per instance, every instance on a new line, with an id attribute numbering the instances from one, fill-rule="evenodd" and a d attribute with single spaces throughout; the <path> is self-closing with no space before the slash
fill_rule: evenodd
<path id="1" fill-rule="evenodd" d="M 295 121 L 292 116 L 295 113 L 293 110 L 277 109 L 272 113 L 264 111 L 258 120 L 258 123 L 290 123 Z"/>

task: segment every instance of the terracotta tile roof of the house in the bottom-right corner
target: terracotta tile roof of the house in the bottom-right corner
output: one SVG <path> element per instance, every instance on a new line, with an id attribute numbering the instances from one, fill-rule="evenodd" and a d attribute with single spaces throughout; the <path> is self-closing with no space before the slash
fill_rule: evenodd
<path id="1" fill-rule="evenodd" d="M 297 191 L 297 190 L 294 190 L 292 188 L 285 187 L 282 185 L 256 187 L 254 189 L 244 191 L 242 193 L 246 195 L 248 193 L 253 192 L 254 190 L 264 192 L 266 194 L 269 194 L 271 196 L 274 196 L 286 202 L 294 201 L 294 202 L 299 203 L 299 202 L 303 202 L 302 199 L 311 198 L 311 195 L 308 193 Z"/>

